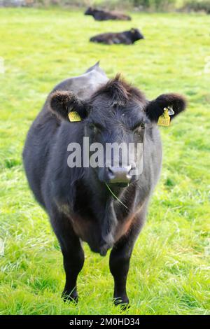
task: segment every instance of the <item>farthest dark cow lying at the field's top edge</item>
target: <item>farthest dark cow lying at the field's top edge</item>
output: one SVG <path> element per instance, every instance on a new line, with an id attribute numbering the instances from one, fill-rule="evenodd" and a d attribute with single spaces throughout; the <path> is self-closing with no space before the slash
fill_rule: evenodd
<path id="1" fill-rule="evenodd" d="M 92 7 L 87 8 L 85 15 L 91 15 L 94 20 L 131 20 L 131 17 L 116 11 L 104 11 L 94 9 Z"/>

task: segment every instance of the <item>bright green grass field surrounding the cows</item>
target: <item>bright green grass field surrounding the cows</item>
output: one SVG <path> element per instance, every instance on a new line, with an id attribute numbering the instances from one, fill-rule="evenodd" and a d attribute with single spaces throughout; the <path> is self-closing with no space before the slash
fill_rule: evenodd
<path id="1" fill-rule="evenodd" d="M 60 80 L 101 59 L 109 77 L 122 71 L 148 98 L 180 92 L 188 111 L 162 127 L 162 176 L 132 256 L 127 314 L 210 314 L 209 16 L 133 14 L 132 22 L 94 22 L 82 12 L 1 9 L 0 314 L 120 314 L 112 305 L 109 257 L 85 246 L 77 306 L 64 304 L 62 253 L 48 216 L 22 168 L 29 125 Z M 136 45 L 96 45 L 102 31 L 142 29 Z M 209 58 L 208 58 L 209 57 Z"/>

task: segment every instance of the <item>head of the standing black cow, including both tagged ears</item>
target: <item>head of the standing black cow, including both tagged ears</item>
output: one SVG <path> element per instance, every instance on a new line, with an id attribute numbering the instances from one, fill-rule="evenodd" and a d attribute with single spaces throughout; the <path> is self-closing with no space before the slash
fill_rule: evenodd
<path id="1" fill-rule="evenodd" d="M 186 101 L 179 94 L 162 94 L 149 102 L 140 90 L 119 75 L 99 88 L 87 102 L 80 101 L 71 92 L 60 91 L 50 99 L 50 108 L 59 118 L 69 121 L 69 112 L 78 112 L 90 145 L 96 146 L 95 151 L 97 144 L 94 143 L 104 147 L 103 164 L 97 159 L 100 165 L 92 167 L 94 174 L 99 181 L 121 187 L 139 179 L 146 130 L 153 129 L 167 107 L 173 109 L 173 119 L 186 108 Z M 69 122 L 69 129 L 70 126 Z M 111 145 L 119 146 L 118 153 L 106 153 L 107 146 L 110 151 Z"/>

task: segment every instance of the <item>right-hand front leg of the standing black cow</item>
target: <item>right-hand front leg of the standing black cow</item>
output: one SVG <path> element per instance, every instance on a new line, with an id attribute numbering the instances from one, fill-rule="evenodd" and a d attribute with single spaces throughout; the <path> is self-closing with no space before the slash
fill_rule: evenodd
<path id="1" fill-rule="evenodd" d="M 110 254 L 109 267 L 114 279 L 113 301 L 116 305 L 123 304 L 123 309 L 129 304 L 126 291 L 127 274 L 134 243 L 144 223 L 144 218 L 144 214 L 135 218 L 135 223 L 130 232 L 114 245 Z"/>

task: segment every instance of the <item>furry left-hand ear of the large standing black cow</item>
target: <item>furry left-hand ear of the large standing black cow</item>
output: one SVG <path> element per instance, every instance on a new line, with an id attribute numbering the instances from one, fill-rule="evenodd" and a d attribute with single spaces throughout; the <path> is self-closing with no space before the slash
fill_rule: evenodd
<path id="1" fill-rule="evenodd" d="M 78 99 L 72 92 L 56 91 L 50 96 L 50 110 L 59 119 L 69 121 L 69 113 L 75 111 L 82 120 L 87 117 L 89 107 L 87 103 Z"/>

